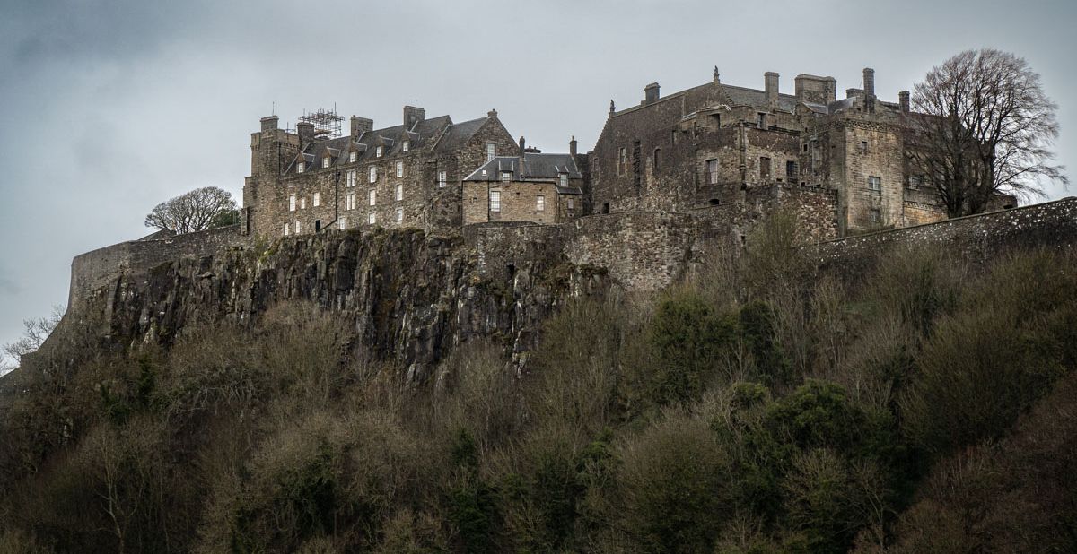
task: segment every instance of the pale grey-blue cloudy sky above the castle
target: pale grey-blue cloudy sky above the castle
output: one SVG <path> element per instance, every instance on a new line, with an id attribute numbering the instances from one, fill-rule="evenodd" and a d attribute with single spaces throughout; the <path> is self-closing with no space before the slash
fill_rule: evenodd
<path id="1" fill-rule="evenodd" d="M 275 110 L 396 124 L 496 109 L 547 151 L 590 150 L 610 99 L 781 73 L 876 69 L 884 100 L 947 57 L 992 46 L 1029 60 L 1060 104 L 1059 160 L 1077 167 L 1077 3 L 472 0 L 0 0 L 0 343 L 67 302 L 71 257 L 148 233 L 191 188 L 240 197 L 250 132 Z M 1049 198 L 1067 196 L 1049 187 Z"/>

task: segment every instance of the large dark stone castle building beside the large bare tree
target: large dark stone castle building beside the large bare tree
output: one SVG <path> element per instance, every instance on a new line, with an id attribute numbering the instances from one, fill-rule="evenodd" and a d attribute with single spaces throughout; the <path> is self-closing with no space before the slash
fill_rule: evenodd
<path id="1" fill-rule="evenodd" d="M 797 75 L 779 93 L 778 73 L 753 89 L 714 79 L 669 96 L 644 89 L 639 105 L 610 116 L 590 155 L 595 211 L 687 211 L 743 201 L 752 190 L 792 186 L 836 193 L 838 235 L 939 221 L 945 210 L 910 175 L 903 142 L 909 93 L 864 87 L 837 98 L 834 77 Z"/>

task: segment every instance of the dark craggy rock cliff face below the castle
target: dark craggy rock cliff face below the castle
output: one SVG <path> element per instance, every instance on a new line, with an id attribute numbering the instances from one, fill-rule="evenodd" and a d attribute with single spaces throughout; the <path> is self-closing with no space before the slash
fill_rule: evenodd
<path id="1" fill-rule="evenodd" d="M 482 276 L 477 259 L 459 238 L 415 230 L 305 236 L 126 271 L 89 293 L 83 309 L 104 314 L 101 332 L 112 341 L 168 344 L 192 325 L 246 325 L 275 303 L 311 301 L 351 322 L 376 358 L 418 381 L 476 337 L 498 338 L 522 364 L 546 315 L 611 287 L 604 270 L 563 259 Z"/>

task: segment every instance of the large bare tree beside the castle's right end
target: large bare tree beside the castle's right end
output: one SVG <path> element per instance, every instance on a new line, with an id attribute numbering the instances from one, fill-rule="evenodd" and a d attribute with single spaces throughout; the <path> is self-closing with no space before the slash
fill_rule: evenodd
<path id="1" fill-rule="evenodd" d="M 949 215 L 987 210 L 998 195 L 1043 196 L 1043 183 L 1068 184 L 1050 164 L 1058 105 L 1024 59 L 967 51 L 915 85 L 909 116 L 912 171 L 935 187 Z"/>

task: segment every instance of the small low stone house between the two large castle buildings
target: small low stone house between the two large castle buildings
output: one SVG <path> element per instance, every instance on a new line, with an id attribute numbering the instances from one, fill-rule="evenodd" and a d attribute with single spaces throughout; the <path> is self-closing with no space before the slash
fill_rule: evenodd
<path id="1" fill-rule="evenodd" d="M 521 139 L 522 144 L 522 139 Z M 464 225 L 564 223 L 584 210 L 584 175 L 572 154 L 498 157 L 463 181 Z"/>

